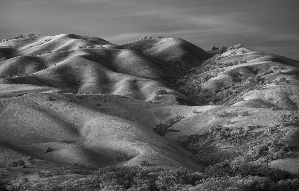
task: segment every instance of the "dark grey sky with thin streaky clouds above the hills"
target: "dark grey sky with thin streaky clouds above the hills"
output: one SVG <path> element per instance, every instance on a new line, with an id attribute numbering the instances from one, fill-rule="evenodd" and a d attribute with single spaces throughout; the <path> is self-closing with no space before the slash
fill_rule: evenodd
<path id="1" fill-rule="evenodd" d="M 298 8 L 298 0 L 1 0 L 0 40 L 32 32 L 120 45 L 151 35 L 299 60 Z"/>

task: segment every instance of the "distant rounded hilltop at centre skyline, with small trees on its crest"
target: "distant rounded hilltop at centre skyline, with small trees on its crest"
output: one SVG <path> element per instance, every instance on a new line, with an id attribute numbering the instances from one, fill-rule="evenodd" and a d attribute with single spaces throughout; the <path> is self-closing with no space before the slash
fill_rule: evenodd
<path id="1" fill-rule="evenodd" d="M 144 54 L 167 61 L 181 61 L 187 66 L 200 66 L 203 60 L 212 57 L 211 54 L 203 49 L 180 38 L 136 40 L 120 46 L 143 51 Z"/>

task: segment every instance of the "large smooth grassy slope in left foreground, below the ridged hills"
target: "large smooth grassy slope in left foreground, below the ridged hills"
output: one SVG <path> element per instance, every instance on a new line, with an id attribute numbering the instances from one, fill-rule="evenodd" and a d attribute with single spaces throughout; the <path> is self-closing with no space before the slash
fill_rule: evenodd
<path id="1" fill-rule="evenodd" d="M 53 100 L 45 101 L 49 95 Z M 151 168 L 184 166 L 201 171 L 199 165 L 187 159 L 187 151 L 152 131 L 155 119 L 149 118 L 146 112 L 135 111 L 135 107 L 143 104 L 148 107 L 158 104 L 107 97 L 113 96 L 75 98 L 74 94 L 34 93 L 3 98 L 0 100 L 0 139 L 28 155 L 57 163 L 100 167 L 139 165 L 147 161 Z M 120 98 L 123 104 L 118 106 L 113 100 Z M 131 113 L 137 120 L 118 117 L 117 113 Z M 45 153 L 47 146 L 53 151 Z M 126 153 L 129 160 L 117 162 L 120 152 Z"/>

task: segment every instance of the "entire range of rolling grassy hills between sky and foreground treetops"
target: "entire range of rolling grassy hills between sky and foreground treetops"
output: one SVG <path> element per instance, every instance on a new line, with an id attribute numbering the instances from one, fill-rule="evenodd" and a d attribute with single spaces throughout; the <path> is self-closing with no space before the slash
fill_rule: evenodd
<path id="1" fill-rule="evenodd" d="M 296 60 L 243 46 L 209 54 L 179 38 L 115 45 L 73 34 L 8 40 L 0 54 L 5 180 L 44 183 L 38 171 L 59 171 L 51 180 L 60 183 L 106 166 L 299 168 Z M 7 170 L 18 160 L 30 175 Z"/>

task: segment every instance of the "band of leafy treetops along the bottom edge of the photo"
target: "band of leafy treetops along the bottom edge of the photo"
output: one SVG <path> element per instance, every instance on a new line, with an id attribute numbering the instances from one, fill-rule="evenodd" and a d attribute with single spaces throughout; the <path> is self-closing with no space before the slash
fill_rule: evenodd
<path id="1" fill-rule="evenodd" d="M 23 181 L 10 184 L 1 180 L 1 191 L 209 191 L 209 190 L 293 190 L 299 187 L 299 174 L 271 168 L 263 164 L 219 163 L 210 165 L 203 173 L 187 169 L 149 172 L 138 166 L 100 168 L 86 178 L 69 179 L 61 184 L 33 185 Z"/>

